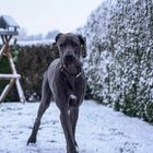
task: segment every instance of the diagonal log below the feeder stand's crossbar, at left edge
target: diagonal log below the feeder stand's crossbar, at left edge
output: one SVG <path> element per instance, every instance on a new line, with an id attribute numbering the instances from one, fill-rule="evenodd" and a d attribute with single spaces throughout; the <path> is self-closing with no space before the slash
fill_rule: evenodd
<path id="1" fill-rule="evenodd" d="M 14 83 L 15 83 L 15 79 L 11 79 L 10 83 L 5 86 L 5 89 L 0 95 L 0 103 L 4 101 L 5 96 L 8 95 L 9 91 L 11 90 Z"/>

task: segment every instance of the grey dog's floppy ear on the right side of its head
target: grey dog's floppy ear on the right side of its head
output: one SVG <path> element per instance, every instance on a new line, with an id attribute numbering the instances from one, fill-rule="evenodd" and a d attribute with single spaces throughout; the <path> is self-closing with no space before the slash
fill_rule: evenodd
<path id="1" fill-rule="evenodd" d="M 86 57 L 86 38 L 82 35 L 78 35 L 80 43 L 81 43 L 81 55 L 83 58 Z"/>

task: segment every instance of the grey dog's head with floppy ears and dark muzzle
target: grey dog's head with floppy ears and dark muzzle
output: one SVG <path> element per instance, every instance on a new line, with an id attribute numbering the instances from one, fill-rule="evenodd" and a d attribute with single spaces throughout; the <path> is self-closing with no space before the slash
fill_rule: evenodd
<path id="1" fill-rule="evenodd" d="M 80 57 L 86 57 L 85 38 L 75 34 L 58 34 L 56 36 L 61 61 L 66 68 L 78 67 L 81 64 Z"/>

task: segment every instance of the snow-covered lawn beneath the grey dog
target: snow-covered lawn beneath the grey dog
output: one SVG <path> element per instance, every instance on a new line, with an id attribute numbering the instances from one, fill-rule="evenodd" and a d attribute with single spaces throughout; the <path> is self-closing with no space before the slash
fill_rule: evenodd
<path id="1" fill-rule="evenodd" d="M 55 103 L 43 117 L 37 143 L 26 145 L 37 108 L 38 103 L 0 105 L 0 153 L 66 153 Z M 153 126 L 85 101 L 76 140 L 80 153 L 153 153 Z"/>

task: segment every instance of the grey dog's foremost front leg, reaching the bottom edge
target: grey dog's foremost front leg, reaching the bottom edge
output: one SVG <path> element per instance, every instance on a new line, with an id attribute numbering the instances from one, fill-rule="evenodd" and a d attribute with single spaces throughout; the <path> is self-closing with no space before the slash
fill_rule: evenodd
<path id="1" fill-rule="evenodd" d="M 67 141 L 67 153 L 78 153 L 72 131 L 71 118 L 68 109 L 60 111 L 60 121 Z"/>

